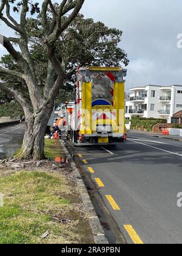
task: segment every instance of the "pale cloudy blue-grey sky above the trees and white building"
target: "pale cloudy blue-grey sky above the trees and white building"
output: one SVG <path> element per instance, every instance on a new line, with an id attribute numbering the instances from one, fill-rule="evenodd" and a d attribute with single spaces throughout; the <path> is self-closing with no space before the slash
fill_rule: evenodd
<path id="1" fill-rule="evenodd" d="M 81 13 L 123 30 L 120 47 L 130 60 L 127 89 L 182 85 L 182 47 L 177 47 L 177 36 L 182 34 L 181 0 L 86 0 Z M 0 27 L 1 34 L 9 32 Z M 0 56 L 4 53 L 0 45 Z"/>

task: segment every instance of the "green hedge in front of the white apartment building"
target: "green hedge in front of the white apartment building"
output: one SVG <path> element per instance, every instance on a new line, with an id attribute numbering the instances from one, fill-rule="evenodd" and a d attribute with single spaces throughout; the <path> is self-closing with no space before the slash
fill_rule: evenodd
<path id="1" fill-rule="evenodd" d="M 143 126 L 147 132 L 151 132 L 153 126 L 158 123 L 167 123 L 166 119 L 155 119 L 155 118 L 140 118 L 138 116 L 132 116 L 132 129 L 136 129 L 136 126 Z"/>

